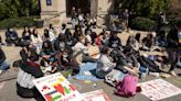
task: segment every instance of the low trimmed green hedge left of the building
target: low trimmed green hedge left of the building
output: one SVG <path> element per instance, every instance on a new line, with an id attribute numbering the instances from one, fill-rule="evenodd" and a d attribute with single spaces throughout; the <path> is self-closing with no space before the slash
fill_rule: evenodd
<path id="1" fill-rule="evenodd" d="M 24 27 L 24 26 L 34 26 L 35 21 L 33 18 L 17 18 L 17 19 L 6 19 L 0 21 L 0 30 L 4 30 L 8 27 Z"/>

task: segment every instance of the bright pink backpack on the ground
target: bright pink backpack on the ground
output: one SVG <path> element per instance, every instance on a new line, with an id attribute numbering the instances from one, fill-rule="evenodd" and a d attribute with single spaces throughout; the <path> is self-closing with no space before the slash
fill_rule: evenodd
<path id="1" fill-rule="evenodd" d="M 134 97 L 137 92 L 138 77 L 127 75 L 124 77 L 123 82 L 116 86 L 115 94 L 120 97 Z"/>

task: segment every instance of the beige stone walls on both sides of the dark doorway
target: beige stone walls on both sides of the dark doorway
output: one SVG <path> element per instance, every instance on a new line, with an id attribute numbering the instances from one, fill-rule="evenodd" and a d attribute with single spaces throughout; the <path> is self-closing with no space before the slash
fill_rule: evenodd
<path id="1" fill-rule="evenodd" d="M 46 0 L 41 1 L 41 19 L 46 20 L 46 24 L 50 22 L 67 22 L 66 18 L 66 0 L 52 0 L 52 5 L 46 5 Z M 92 14 L 97 13 L 100 18 L 97 18 L 97 22 L 103 24 L 106 15 L 114 10 L 114 0 L 93 0 L 91 5 Z M 55 16 L 55 18 L 53 18 Z"/>

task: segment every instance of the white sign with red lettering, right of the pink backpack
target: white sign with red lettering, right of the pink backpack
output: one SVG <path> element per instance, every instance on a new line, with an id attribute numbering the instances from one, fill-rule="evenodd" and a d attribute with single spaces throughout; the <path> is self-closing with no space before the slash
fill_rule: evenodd
<path id="1" fill-rule="evenodd" d="M 152 101 L 162 100 L 181 93 L 181 89 L 162 79 L 140 83 L 141 94 Z"/>

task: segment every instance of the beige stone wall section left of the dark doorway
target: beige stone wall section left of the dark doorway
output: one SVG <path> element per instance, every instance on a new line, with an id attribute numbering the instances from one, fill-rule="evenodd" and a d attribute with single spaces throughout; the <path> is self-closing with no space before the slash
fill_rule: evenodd
<path id="1" fill-rule="evenodd" d="M 46 0 L 41 1 L 41 19 L 44 25 L 60 24 L 66 20 L 66 0 L 52 0 L 52 5 L 46 5 Z"/>

